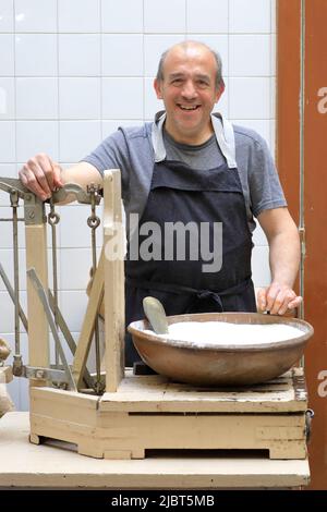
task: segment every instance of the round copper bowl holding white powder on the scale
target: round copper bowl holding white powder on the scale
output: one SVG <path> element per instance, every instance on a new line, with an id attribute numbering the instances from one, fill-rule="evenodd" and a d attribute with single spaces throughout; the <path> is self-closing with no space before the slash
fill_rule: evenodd
<path id="1" fill-rule="evenodd" d="M 196 348 L 186 341 L 162 340 L 144 332 L 147 320 L 130 324 L 128 330 L 142 359 L 158 374 L 178 382 L 195 386 L 244 386 L 274 379 L 301 358 L 313 327 L 304 320 L 258 313 L 204 313 L 167 317 L 168 324 L 181 321 L 228 321 L 232 324 L 284 324 L 303 334 L 271 343 L 226 344 Z"/>

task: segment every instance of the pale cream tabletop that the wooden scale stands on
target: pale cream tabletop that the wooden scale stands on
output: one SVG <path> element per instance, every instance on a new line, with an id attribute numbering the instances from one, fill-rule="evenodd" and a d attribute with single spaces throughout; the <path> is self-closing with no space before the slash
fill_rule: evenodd
<path id="1" fill-rule="evenodd" d="M 142 461 L 81 458 L 66 443 L 28 442 L 28 413 L 0 419 L 1 488 L 231 489 L 308 485 L 307 460 L 153 455 Z"/>

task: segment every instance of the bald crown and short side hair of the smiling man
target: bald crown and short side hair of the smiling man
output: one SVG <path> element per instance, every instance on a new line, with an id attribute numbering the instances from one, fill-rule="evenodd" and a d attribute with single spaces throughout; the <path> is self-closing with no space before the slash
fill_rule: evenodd
<path id="1" fill-rule="evenodd" d="M 221 86 L 225 86 L 223 78 L 222 78 L 222 63 L 220 56 L 217 51 L 213 50 L 209 46 L 205 45 L 204 42 L 186 40 L 182 42 L 178 42 L 172 47 L 168 48 L 160 58 L 158 71 L 157 71 L 157 81 L 162 81 L 165 75 L 165 63 L 167 59 L 175 53 L 208 53 L 213 57 L 213 64 L 216 66 L 216 80 L 215 85 L 216 89 L 219 89 Z"/>

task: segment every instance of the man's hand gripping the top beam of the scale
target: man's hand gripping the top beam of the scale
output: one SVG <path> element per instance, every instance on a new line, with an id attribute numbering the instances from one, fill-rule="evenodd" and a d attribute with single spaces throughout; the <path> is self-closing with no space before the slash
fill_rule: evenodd
<path id="1" fill-rule="evenodd" d="M 63 186 L 61 167 L 44 153 L 31 158 L 23 166 L 20 179 L 41 200 L 48 199 L 53 191 Z"/>

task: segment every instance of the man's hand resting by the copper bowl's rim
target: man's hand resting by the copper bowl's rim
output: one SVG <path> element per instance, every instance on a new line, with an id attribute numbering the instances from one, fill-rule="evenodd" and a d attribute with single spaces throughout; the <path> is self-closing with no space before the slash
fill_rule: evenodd
<path id="1" fill-rule="evenodd" d="M 287 310 L 294 309 L 302 302 L 294 290 L 287 284 L 272 282 L 257 293 L 257 307 L 259 312 L 269 312 L 271 315 L 284 315 Z"/>

